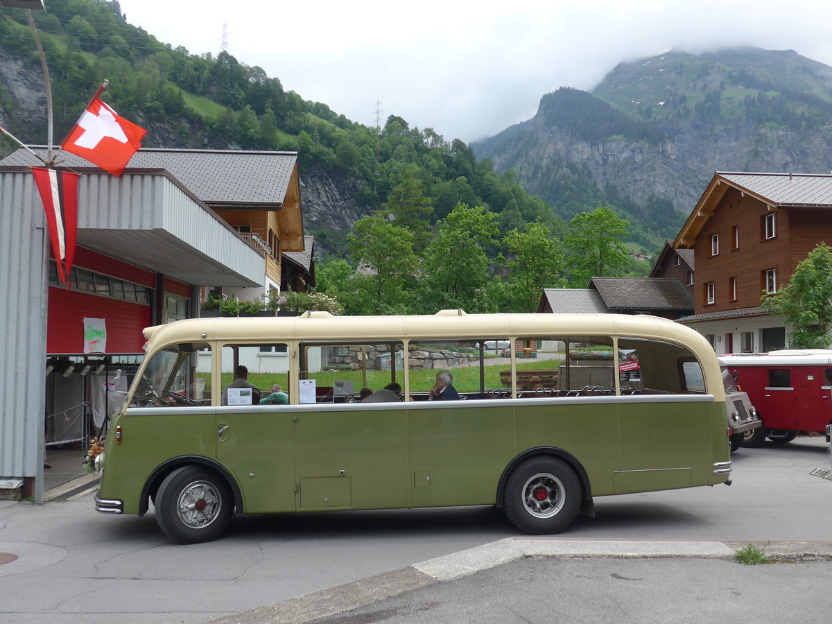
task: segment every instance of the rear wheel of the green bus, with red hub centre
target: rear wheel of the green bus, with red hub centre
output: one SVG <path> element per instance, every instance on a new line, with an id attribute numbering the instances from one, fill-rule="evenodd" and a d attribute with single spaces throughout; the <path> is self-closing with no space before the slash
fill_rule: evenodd
<path id="1" fill-rule="evenodd" d="M 508 476 L 503 512 L 523 532 L 559 533 L 572 523 L 580 506 L 581 482 L 561 459 L 528 458 Z"/>

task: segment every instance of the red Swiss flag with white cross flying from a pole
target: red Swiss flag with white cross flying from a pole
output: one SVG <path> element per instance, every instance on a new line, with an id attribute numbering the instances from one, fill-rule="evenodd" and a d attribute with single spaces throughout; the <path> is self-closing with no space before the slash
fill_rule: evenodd
<path id="1" fill-rule="evenodd" d="M 118 116 L 102 102 L 98 95 L 103 88 L 92 97 L 61 147 L 117 177 L 141 147 L 141 138 L 147 131 Z"/>

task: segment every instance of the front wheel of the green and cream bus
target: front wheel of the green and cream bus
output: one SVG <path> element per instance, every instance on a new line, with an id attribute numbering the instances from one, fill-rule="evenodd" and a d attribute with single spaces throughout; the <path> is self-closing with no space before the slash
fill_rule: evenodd
<path id="1" fill-rule="evenodd" d="M 167 537 L 181 544 L 220 537 L 233 512 L 228 484 L 201 466 L 176 468 L 156 493 L 156 523 Z"/>

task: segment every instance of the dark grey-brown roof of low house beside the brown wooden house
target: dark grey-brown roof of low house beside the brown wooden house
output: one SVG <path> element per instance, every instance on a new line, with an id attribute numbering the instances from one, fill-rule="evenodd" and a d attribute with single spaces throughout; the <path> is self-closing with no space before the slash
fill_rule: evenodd
<path id="1" fill-rule="evenodd" d="M 672 277 L 593 277 L 612 310 L 693 310 L 693 295 Z"/>

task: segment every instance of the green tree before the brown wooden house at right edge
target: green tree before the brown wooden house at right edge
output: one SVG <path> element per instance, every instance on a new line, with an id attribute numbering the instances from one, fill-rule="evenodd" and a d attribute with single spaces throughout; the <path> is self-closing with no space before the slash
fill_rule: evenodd
<path id="1" fill-rule="evenodd" d="M 762 308 L 785 317 L 792 349 L 827 349 L 832 329 L 832 248 L 820 243 L 795 268 L 789 283 L 763 293 Z"/>

